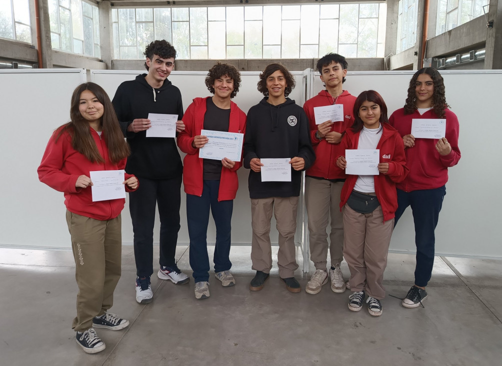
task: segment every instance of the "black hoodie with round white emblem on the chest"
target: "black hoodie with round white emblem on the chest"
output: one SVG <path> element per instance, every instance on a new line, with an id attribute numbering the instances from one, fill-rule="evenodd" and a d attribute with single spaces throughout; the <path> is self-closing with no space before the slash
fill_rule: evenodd
<path id="1" fill-rule="evenodd" d="M 305 160 L 304 170 L 315 160 L 310 142 L 309 124 L 302 107 L 286 98 L 272 105 L 263 98 L 247 112 L 244 136 L 244 167 L 253 158 L 293 158 Z M 249 172 L 250 198 L 292 197 L 300 195 L 302 173 L 291 168 L 291 182 L 262 182 L 262 173 Z"/>

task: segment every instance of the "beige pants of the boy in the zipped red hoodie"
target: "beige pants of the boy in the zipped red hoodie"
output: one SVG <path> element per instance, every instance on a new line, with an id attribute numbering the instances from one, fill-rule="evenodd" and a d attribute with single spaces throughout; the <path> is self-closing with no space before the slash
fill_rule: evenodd
<path id="1" fill-rule="evenodd" d="M 328 234 L 326 227 L 331 216 L 329 254 L 331 266 L 343 261 L 343 216 L 340 195 L 343 182 L 305 178 L 305 205 L 309 223 L 310 260 L 316 270 L 327 270 Z"/>

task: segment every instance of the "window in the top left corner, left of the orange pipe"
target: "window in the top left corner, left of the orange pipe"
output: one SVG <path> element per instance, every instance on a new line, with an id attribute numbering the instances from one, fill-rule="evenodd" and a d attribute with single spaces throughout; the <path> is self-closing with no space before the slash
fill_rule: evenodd
<path id="1" fill-rule="evenodd" d="M 0 37 L 32 43 L 28 0 L 0 0 Z"/>

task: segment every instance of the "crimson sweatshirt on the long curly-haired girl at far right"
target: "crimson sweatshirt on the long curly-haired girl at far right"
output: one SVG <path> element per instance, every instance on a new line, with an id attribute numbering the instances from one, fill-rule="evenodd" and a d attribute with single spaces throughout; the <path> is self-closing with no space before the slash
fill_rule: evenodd
<path id="1" fill-rule="evenodd" d="M 446 140 L 451 145 L 448 155 L 439 155 L 436 150 L 436 139 L 415 139 L 415 146 L 407 148 L 406 162 L 410 168 L 408 177 L 397 187 L 403 191 L 411 192 L 420 189 L 435 189 L 442 187 L 448 181 L 448 167 L 452 167 L 460 160 L 458 149 L 458 118 L 449 109 L 446 112 Z M 392 113 L 389 123 L 398 130 L 401 137 L 411 134 L 413 118 L 439 118 L 433 109 L 424 114 L 417 110 L 412 114 L 405 114 L 404 108 Z"/>

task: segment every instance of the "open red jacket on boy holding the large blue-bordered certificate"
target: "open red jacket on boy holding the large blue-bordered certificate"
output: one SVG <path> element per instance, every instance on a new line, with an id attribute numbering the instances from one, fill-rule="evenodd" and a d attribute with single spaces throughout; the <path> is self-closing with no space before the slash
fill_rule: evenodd
<path id="1" fill-rule="evenodd" d="M 187 155 L 183 159 L 183 185 L 185 193 L 195 196 L 202 196 L 203 190 L 203 172 L 204 159 L 199 158 L 199 149 L 192 147 L 195 136 L 199 136 L 204 129 L 204 115 L 206 113 L 206 98 L 195 98 L 188 106 L 183 115 L 185 131 L 182 131 L 177 138 L 177 144 L 180 150 Z M 245 133 L 246 115 L 237 107 L 237 104 L 230 101 L 230 121 L 228 132 L 239 134 Z M 239 188 L 239 179 L 237 170 L 242 165 L 242 159 L 235 162 L 232 169 L 221 168 L 220 187 L 218 192 L 218 201 L 227 201 L 235 198 Z"/>

